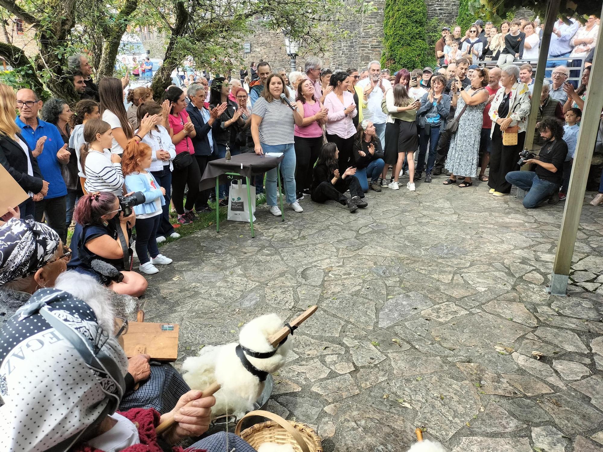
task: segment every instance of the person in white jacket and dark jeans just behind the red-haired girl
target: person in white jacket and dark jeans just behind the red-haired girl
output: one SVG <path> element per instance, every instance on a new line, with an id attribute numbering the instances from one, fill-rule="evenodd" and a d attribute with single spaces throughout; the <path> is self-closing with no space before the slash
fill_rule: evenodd
<path id="1" fill-rule="evenodd" d="M 168 104 L 169 105 L 169 104 Z M 163 119 L 164 116 L 168 116 L 169 110 L 166 112 L 164 106 L 158 104 L 155 101 L 147 101 L 144 104 L 140 104 L 138 107 L 137 115 L 140 118 L 144 118 L 145 115 L 153 116 L 157 115 Z M 157 124 L 153 130 L 151 130 L 142 139 L 142 143 L 150 146 L 151 148 L 151 166 L 149 171 L 153 174 L 155 180 L 165 189 L 165 204 L 163 204 L 163 218 L 157 228 L 156 240 L 158 243 L 163 242 L 166 237 L 172 237 L 177 239 L 180 237 L 174 227 L 169 221 L 169 201 L 171 200 L 171 187 L 172 187 L 172 160 L 176 157 L 176 146 L 172 143 L 172 139 L 169 136 L 168 130 L 163 125 Z"/>

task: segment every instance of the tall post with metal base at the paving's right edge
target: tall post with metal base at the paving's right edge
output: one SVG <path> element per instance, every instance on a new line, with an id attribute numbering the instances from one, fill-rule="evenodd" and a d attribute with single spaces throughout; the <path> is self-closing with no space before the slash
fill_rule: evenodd
<path id="1" fill-rule="evenodd" d="M 598 89 L 599 84 L 603 83 L 603 55 L 600 55 L 601 52 L 599 51 L 601 45 L 603 45 L 602 34 L 599 33 L 599 36 L 597 36 L 597 51 L 591 67 L 589 91 L 582 111 L 578 143 L 573 157 L 572 175 L 569 180 L 569 190 L 567 190 L 561 231 L 557 242 L 557 253 L 555 253 L 555 262 L 551 274 L 551 286 L 547 288 L 547 291 L 552 295 L 563 297 L 566 296 L 573 248 L 576 244 L 576 234 L 578 233 L 582 204 L 584 203 L 586 180 L 589 175 L 590 160 L 592 160 L 593 150 L 595 149 L 597 131 L 599 130 L 601 108 L 603 108 L 603 89 Z"/>

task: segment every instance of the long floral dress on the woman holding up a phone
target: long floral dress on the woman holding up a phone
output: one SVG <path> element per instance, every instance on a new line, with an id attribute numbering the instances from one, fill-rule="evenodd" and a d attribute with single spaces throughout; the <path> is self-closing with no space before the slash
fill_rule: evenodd
<path id="1" fill-rule="evenodd" d="M 470 87 L 468 86 L 467 89 Z M 472 94 L 481 92 L 476 91 Z M 467 105 L 463 116 L 459 119 L 458 129 L 450 138 L 450 149 L 446 159 L 446 169 L 456 176 L 475 177 L 478 171 L 479 139 L 484 121 L 483 111 L 488 101 L 478 105 Z M 463 96 L 458 96 L 455 118 L 465 107 Z"/>

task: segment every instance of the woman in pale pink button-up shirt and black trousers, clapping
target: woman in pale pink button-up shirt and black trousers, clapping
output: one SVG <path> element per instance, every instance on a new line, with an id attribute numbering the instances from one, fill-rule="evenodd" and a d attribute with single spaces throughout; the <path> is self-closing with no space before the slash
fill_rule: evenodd
<path id="1" fill-rule="evenodd" d="M 347 89 L 350 84 L 349 75 L 337 71 L 331 76 L 330 86 L 333 91 L 324 98 L 327 113 L 327 141 L 335 143 L 339 149 L 339 174 L 354 163 L 353 148 L 356 128 L 352 118 L 358 115 L 354 96 Z"/>

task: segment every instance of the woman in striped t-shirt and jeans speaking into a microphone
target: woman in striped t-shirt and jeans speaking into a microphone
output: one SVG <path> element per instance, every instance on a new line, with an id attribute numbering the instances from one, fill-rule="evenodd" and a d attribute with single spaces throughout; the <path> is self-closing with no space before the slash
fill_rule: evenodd
<path id="1" fill-rule="evenodd" d="M 251 108 L 251 136 L 256 154 L 283 152 L 285 158 L 280 163 L 280 172 L 285 181 L 286 199 L 291 209 L 303 212 L 295 198 L 295 124 L 303 125 L 303 116 L 292 110 L 280 99 L 285 81 L 278 74 L 270 74 L 262 95 Z M 274 216 L 282 215 L 276 205 L 276 168 L 266 173 L 267 204 Z"/>

